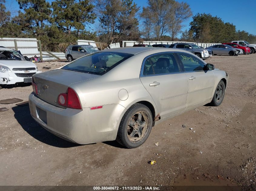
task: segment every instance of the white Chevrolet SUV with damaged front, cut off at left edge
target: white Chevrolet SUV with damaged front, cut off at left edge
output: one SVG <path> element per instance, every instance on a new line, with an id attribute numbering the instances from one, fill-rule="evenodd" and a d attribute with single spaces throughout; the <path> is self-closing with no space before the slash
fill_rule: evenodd
<path id="1" fill-rule="evenodd" d="M 0 47 L 0 89 L 6 85 L 31 83 L 32 75 L 40 73 L 33 62 L 13 49 Z"/>

